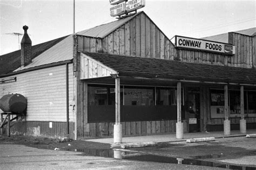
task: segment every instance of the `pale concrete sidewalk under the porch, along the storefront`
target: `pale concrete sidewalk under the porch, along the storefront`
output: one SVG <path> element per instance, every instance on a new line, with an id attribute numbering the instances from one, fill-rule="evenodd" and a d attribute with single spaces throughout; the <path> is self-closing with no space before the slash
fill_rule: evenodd
<path id="1" fill-rule="evenodd" d="M 246 134 L 255 134 L 256 130 L 247 130 Z M 204 138 L 204 137 L 215 137 L 215 138 L 229 138 L 229 137 L 240 137 L 246 136 L 246 134 L 240 133 L 240 131 L 231 131 L 231 135 L 224 135 L 223 131 L 218 132 L 196 132 L 196 133 L 184 133 L 183 139 L 176 139 L 176 134 L 156 134 L 156 135 L 146 135 L 138 137 L 123 137 L 123 143 L 132 142 L 175 142 L 175 141 L 186 141 L 186 139 L 191 138 Z M 86 141 L 100 142 L 105 144 L 113 144 L 113 138 L 102 138 L 102 139 L 87 139 Z"/>

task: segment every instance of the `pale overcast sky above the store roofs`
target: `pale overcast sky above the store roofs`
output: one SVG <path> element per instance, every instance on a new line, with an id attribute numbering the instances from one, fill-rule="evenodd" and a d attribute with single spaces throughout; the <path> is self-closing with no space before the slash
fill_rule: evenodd
<path id="1" fill-rule="evenodd" d="M 256 1 L 153 1 L 144 11 L 168 38 L 201 38 L 256 27 Z M 76 32 L 115 21 L 109 0 L 76 0 Z M 22 26 L 28 25 L 32 45 L 73 32 L 73 1 L 0 0 L 0 55 L 18 50 Z M 8 33 L 8 34 L 6 34 Z M 19 37 L 20 41 L 22 36 Z"/>

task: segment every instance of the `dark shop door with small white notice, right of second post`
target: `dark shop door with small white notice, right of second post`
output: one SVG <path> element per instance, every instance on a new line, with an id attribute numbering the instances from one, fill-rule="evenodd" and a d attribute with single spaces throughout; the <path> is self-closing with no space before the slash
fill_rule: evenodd
<path id="1" fill-rule="evenodd" d="M 200 132 L 200 92 L 189 90 L 187 96 L 187 111 L 190 132 Z"/>

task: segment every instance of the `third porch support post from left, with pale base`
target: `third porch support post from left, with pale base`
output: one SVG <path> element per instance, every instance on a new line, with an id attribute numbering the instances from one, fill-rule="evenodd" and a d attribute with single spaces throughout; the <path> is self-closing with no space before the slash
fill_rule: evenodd
<path id="1" fill-rule="evenodd" d="M 225 135 L 230 135 L 230 120 L 228 120 L 229 108 L 228 108 L 228 87 L 227 87 L 227 85 L 224 86 L 224 95 L 225 95 L 224 134 Z"/>

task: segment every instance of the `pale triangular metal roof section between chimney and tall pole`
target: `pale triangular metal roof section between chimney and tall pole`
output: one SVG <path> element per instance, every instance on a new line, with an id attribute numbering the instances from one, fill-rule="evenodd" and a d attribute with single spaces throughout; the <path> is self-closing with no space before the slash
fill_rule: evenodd
<path id="1" fill-rule="evenodd" d="M 36 58 L 32 59 L 32 63 L 15 71 L 28 69 L 30 67 L 40 66 L 44 64 L 51 64 L 70 60 L 73 58 L 73 35 L 63 39 L 58 44 L 52 46 L 50 49 L 44 51 Z"/>

